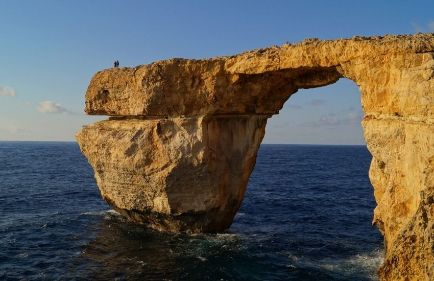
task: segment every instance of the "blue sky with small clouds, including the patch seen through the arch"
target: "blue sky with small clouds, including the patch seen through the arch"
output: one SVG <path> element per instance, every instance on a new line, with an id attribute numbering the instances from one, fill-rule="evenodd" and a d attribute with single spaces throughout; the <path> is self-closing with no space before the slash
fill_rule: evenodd
<path id="1" fill-rule="evenodd" d="M 0 140 L 75 141 L 92 76 L 305 38 L 434 32 L 434 1 L 1 1 Z M 363 145 L 358 87 L 300 89 L 263 143 Z"/>

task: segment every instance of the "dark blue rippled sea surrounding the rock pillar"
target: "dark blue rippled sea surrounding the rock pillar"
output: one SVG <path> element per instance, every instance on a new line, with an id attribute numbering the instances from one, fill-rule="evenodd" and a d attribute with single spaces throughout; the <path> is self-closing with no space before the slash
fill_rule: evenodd
<path id="1" fill-rule="evenodd" d="M 371 280 L 364 146 L 261 145 L 232 227 L 163 233 L 100 197 L 76 143 L 0 142 L 0 279 Z"/>

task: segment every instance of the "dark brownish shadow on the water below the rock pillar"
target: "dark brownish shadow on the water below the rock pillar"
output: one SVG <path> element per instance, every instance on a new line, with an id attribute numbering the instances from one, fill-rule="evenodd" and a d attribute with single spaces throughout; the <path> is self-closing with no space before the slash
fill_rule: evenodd
<path id="1" fill-rule="evenodd" d="M 116 213 L 107 213 L 93 223 L 101 229 L 74 258 L 68 267 L 69 277 L 233 279 L 230 272 L 252 266 L 239 261 L 239 256 L 248 255 L 244 239 L 236 235 L 159 232 L 135 225 Z"/>

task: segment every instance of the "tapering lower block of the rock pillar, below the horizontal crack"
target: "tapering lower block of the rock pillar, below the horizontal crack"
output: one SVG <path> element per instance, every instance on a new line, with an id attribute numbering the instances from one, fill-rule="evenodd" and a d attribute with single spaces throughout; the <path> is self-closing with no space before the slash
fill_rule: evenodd
<path id="1" fill-rule="evenodd" d="M 101 195 L 157 229 L 228 228 L 243 201 L 267 117 L 108 120 L 77 133 Z"/>

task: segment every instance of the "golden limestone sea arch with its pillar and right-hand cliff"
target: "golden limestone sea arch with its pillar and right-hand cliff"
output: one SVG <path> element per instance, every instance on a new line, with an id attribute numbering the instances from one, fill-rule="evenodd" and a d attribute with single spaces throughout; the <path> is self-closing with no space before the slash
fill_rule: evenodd
<path id="1" fill-rule="evenodd" d="M 77 133 L 103 198 L 165 230 L 228 228 L 267 119 L 299 88 L 360 88 L 381 279 L 434 278 L 434 34 L 305 40 L 97 73 Z"/>

